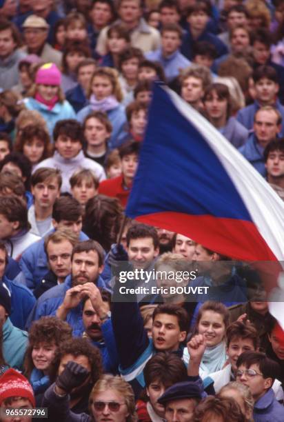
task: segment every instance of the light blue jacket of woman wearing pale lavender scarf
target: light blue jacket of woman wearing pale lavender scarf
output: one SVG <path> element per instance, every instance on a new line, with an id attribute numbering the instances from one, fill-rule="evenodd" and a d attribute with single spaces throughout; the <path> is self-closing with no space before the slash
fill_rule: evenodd
<path id="1" fill-rule="evenodd" d="M 90 114 L 92 111 L 93 110 L 90 105 L 85 106 L 77 114 L 77 120 L 80 123 L 83 123 L 85 117 L 87 117 L 88 114 Z M 110 119 L 110 123 L 112 123 L 112 136 L 108 140 L 108 148 L 113 150 L 114 148 L 118 148 L 121 143 L 123 143 L 123 139 L 125 138 L 125 126 L 127 124 L 125 108 L 119 104 L 119 106 L 116 108 L 109 110 L 107 114 L 108 119 Z"/>

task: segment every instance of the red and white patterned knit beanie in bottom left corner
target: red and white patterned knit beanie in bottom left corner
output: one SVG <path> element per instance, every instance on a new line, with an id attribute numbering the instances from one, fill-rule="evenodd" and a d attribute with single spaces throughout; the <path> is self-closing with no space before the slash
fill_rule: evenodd
<path id="1" fill-rule="evenodd" d="M 8 369 L 0 377 L 0 405 L 4 400 L 9 397 L 23 397 L 28 399 L 32 403 L 32 407 L 35 408 L 34 392 L 32 391 L 32 385 L 20 372 Z"/>

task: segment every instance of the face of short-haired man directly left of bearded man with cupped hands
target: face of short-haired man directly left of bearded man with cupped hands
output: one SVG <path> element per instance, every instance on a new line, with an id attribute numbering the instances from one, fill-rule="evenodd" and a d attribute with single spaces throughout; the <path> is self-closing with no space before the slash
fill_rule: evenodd
<path id="1" fill-rule="evenodd" d="M 71 272 L 72 243 L 67 239 L 63 239 L 59 243 L 49 241 L 46 249 L 50 270 L 57 277 L 65 279 Z"/>

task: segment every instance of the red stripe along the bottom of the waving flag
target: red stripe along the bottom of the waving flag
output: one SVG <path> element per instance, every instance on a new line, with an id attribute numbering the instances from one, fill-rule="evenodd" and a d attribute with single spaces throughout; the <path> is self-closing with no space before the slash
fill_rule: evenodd
<path id="1" fill-rule="evenodd" d="M 241 261 L 277 261 L 254 223 L 237 219 L 155 212 L 136 217 L 141 223 L 181 233 L 214 252 Z"/>

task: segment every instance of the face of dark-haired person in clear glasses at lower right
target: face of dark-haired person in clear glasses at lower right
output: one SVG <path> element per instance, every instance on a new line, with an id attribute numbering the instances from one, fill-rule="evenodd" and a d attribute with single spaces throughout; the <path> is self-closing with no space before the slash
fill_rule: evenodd
<path id="1" fill-rule="evenodd" d="M 250 376 L 249 374 L 245 373 L 245 370 L 251 369 L 256 371 L 255 376 Z M 263 378 L 263 375 L 261 374 L 261 371 L 259 370 L 258 365 L 254 363 L 250 366 L 250 368 L 246 368 L 245 365 L 240 365 L 238 370 L 244 371 L 241 376 L 238 374 L 236 375 L 236 381 L 239 383 L 243 383 L 247 385 L 248 388 L 250 388 L 250 392 L 252 393 L 252 396 L 254 398 L 254 401 L 257 401 L 260 399 L 265 392 L 267 392 L 268 388 L 272 385 L 272 379 L 271 378 Z"/>

